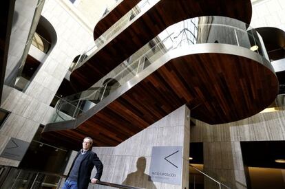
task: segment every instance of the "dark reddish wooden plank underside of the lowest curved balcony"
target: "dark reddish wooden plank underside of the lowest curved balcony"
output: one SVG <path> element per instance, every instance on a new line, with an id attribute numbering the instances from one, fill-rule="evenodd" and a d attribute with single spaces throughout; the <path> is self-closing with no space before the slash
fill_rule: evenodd
<path id="1" fill-rule="evenodd" d="M 43 137 L 75 150 L 86 135 L 96 146 L 116 146 L 183 104 L 192 118 L 221 124 L 262 111 L 277 93 L 275 74 L 249 58 L 217 53 L 181 56 L 76 129 L 44 132 Z"/>

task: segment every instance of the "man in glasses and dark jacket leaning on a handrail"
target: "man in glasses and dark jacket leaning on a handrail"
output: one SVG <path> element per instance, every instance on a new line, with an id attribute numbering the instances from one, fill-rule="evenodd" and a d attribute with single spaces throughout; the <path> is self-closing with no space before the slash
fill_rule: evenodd
<path id="1" fill-rule="evenodd" d="M 97 157 L 96 153 L 91 151 L 92 144 L 92 138 L 84 138 L 82 144 L 83 148 L 77 153 L 72 163 L 63 189 L 87 189 L 94 166 L 96 166 L 97 174 L 93 179 L 91 179 L 92 184 L 96 184 L 96 182 L 101 178 L 103 173 L 103 164 Z"/>

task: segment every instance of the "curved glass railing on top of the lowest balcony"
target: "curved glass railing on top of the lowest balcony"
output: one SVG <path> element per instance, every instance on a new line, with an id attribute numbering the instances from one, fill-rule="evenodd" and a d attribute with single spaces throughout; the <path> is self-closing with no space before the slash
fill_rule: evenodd
<path id="1" fill-rule="evenodd" d="M 139 49 L 138 52 L 118 65 L 118 67 L 107 74 L 107 76 L 99 80 L 94 85 L 94 90 L 88 89 L 74 96 L 63 98 L 59 104 L 70 104 L 70 106 L 76 107 L 74 113 L 72 113 L 72 119 L 77 118 L 79 114 L 76 112 L 80 112 L 81 110 L 88 111 L 94 107 L 94 105 L 104 100 L 113 91 L 116 91 L 120 86 L 125 85 L 132 78 L 139 76 L 140 72 L 145 70 L 152 63 L 155 63 L 156 60 L 165 54 L 180 48 L 187 49 L 192 45 L 223 43 L 244 47 L 246 49 L 252 49 L 252 47 L 256 46 L 256 53 L 261 56 L 266 54 L 260 45 L 261 42 L 257 36 L 257 32 L 245 23 L 220 16 L 210 17 L 211 19 L 214 17 L 216 22 L 219 19 L 221 21 L 225 19 L 229 22 L 235 21 L 235 25 L 240 25 L 240 27 L 224 25 L 222 23 L 207 23 L 207 21 L 210 20 L 207 16 L 188 19 L 171 25 L 156 36 L 156 38 Z M 263 59 L 260 58 L 260 61 L 263 61 Z M 112 80 L 104 83 L 103 79 L 105 78 L 112 78 L 112 80 L 116 80 L 119 85 L 113 85 Z M 101 85 L 100 83 L 104 84 Z M 74 102 L 76 102 L 76 105 Z M 59 106 L 59 111 L 63 111 L 63 107 Z"/>

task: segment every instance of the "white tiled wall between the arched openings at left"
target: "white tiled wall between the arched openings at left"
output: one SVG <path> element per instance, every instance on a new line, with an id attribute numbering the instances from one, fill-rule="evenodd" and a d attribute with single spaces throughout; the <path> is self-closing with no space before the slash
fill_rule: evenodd
<path id="1" fill-rule="evenodd" d="M 74 18 L 60 0 L 45 1 L 42 15 L 50 21 L 57 34 L 57 43 L 25 93 L 4 86 L 8 98 L 1 108 L 11 114 L 0 130 L 0 153 L 10 137 L 31 142 L 39 124 L 49 122 L 54 113 L 50 102 L 78 54 L 94 43 L 92 32 Z M 18 166 L 19 161 L 0 157 L 0 164 Z"/>

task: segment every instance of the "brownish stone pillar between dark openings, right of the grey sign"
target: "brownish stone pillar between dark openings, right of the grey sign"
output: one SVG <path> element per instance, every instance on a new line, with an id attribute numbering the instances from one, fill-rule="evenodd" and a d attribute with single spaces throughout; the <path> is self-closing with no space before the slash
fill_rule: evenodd
<path id="1" fill-rule="evenodd" d="M 246 188 L 240 142 L 204 142 L 204 173 L 229 188 Z M 219 188 L 207 177 L 204 177 L 204 186 Z"/>

